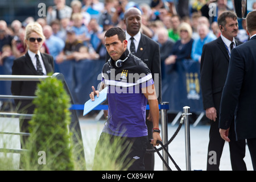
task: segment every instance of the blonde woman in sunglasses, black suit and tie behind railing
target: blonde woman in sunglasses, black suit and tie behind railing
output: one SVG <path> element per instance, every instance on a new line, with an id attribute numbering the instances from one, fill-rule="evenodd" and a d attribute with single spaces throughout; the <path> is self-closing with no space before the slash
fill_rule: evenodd
<path id="1" fill-rule="evenodd" d="M 28 51 L 14 60 L 13 75 L 47 75 L 54 71 L 53 57 L 41 53 L 40 48 L 45 40 L 42 26 L 38 22 L 27 24 L 24 43 Z M 12 81 L 11 92 L 14 96 L 35 96 L 36 81 Z M 32 114 L 35 106 L 32 100 L 15 100 L 19 113 Z M 28 120 L 20 121 L 20 132 L 28 133 Z"/>

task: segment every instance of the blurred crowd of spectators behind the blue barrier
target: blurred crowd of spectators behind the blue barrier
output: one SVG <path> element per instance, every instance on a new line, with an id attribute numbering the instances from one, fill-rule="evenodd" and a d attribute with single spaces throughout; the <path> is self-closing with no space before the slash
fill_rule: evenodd
<path id="1" fill-rule="evenodd" d="M 26 53 L 24 28 L 31 21 L 39 22 L 43 27 L 46 41 L 41 52 L 52 55 L 56 64 L 65 60 L 104 60 L 104 32 L 110 27 L 125 30 L 124 11 L 137 7 L 142 11 L 141 31 L 160 45 L 164 78 L 164 67 L 175 65 L 176 61 L 191 59 L 200 63 L 203 45 L 220 36 L 218 14 L 233 10 L 228 7 L 227 0 L 214 1 L 217 16 L 213 17 L 208 13 L 212 0 L 189 0 L 183 1 L 187 5 L 179 5 L 188 9 L 177 8 L 174 3 L 180 2 L 171 0 L 141 4 L 127 0 L 73 0 L 70 5 L 65 0 L 52 1 L 55 6 L 47 7 L 46 17 L 28 17 L 22 22 L 13 20 L 11 24 L 0 20 L 0 66 L 6 57 L 15 59 Z M 245 20 L 242 20 L 244 24 Z M 240 27 L 237 39 L 242 42 L 248 39 L 244 26 Z"/>

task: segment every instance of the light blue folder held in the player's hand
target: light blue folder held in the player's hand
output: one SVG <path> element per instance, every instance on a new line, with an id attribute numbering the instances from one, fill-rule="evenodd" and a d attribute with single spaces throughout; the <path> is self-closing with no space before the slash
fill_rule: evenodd
<path id="1" fill-rule="evenodd" d="M 97 96 L 94 97 L 94 101 L 92 101 L 91 99 L 86 101 L 85 104 L 84 104 L 84 114 L 83 115 L 88 114 L 96 106 L 98 106 L 102 102 L 104 102 L 106 100 L 107 93 L 108 93 L 108 86 L 106 86 L 106 88 L 101 90 L 101 92 L 100 92 L 98 97 Z"/>

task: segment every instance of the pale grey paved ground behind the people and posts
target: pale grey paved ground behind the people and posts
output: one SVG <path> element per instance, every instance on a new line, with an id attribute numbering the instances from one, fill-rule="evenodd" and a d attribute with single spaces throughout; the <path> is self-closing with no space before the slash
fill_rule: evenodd
<path id="1" fill-rule="evenodd" d="M 0 131 L 13 131 L 18 132 L 18 119 L 10 119 L 10 118 L 0 118 Z M 10 125 L 11 123 L 11 125 Z M 93 162 L 93 154 L 94 148 L 96 146 L 98 137 L 101 134 L 102 127 L 104 125 L 104 121 L 95 121 L 94 118 L 85 118 L 80 117 L 80 126 L 82 131 L 83 142 L 85 146 L 85 158 L 86 164 L 88 164 L 87 169 L 91 169 L 91 165 Z M 168 123 L 168 139 L 172 137 L 174 132 L 177 129 L 177 124 L 171 126 L 171 123 Z M 190 125 L 190 137 L 191 137 L 191 169 L 192 170 L 206 170 L 207 164 L 207 147 L 208 147 L 208 131 L 209 125 L 199 123 L 196 127 Z M 19 136 L 10 137 L 7 135 L 6 138 L 0 137 L 0 148 L 3 147 L 3 139 L 7 139 L 10 141 L 7 143 L 8 148 L 20 148 L 19 144 Z M 186 161 L 185 161 L 185 134 L 184 134 L 184 125 L 181 127 L 181 130 L 177 134 L 176 138 L 170 143 L 168 146 L 168 150 L 175 160 L 177 165 L 181 168 L 181 170 L 186 169 Z M 162 154 L 162 151 L 161 151 Z M 0 156 L 1 156 L 0 152 Z M 14 158 L 14 168 L 18 169 L 18 161 L 19 154 L 13 154 Z M 253 170 L 250 160 L 250 154 L 248 148 L 246 146 L 246 156 L 245 162 L 248 170 Z M 169 161 L 170 167 L 172 170 L 176 170 L 173 166 L 171 160 Z M 224 151 L 221 158 L 221 170 L 229 171 L 232 170 L 230 166 L 229 159 L 229 147 L 228 143 L 225 143 Z M 159 156 L 155 153 L 155 170 L 162 171 L 163 163 Z"/>

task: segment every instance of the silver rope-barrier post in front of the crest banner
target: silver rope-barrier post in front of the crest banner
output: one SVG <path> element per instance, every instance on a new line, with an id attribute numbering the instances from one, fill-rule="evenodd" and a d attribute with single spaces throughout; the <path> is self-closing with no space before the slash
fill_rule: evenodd
<path id="1" fill-rule="evenodd" d="M 184 106 L 183 112 L 185 115 L 185 152 L 186 152 L 186 170 L 191 171 L 191 150 L 190 150 L 190 132 L 189 132 L 189 121 L 188 121 L 188 115 L 191 115 L 189 113 L 190 107 Z"/>

